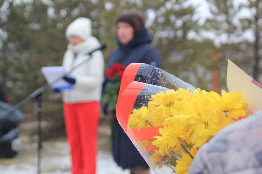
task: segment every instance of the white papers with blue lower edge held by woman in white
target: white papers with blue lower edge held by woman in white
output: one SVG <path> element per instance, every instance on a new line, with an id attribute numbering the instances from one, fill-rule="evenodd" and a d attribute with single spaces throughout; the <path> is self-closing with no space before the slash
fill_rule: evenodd
<path id="1" fill-rule="evenodd" d="M 57 78 L 64 75 L 63 67 L 62 66 L 44 66 L 41 68 L 41 72 L 43 73 L 47 83 L 52 83 Z M 52 84 L 52 88 L 61 88 L 61 87 L 69 87 L 72 86 L 67 81 L 61 79 L 56 83 Z"/>

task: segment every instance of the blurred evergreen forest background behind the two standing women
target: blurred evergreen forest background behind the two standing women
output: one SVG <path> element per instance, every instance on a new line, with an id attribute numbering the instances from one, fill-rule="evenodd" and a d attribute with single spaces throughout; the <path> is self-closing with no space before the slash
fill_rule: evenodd
<path id="1" fill-rule="evenodd" d="M 125 10 L 144 15 L 162 69 L 196 88 L 216 90 L 215 78 L 227 90 L 227 59 L 262 82 L 260 0 L 1 0 L 0 77 L 10 103 L 46 84 L 42 66 L 61 66 L 65 29 L 78 17 L 93 21 L 93 35 L 107 44 L 107 63 L 116 48 L 114 20 Z M 44 119 L 63 126 L 60 95 L 49 90 L 43 99 Z M 35 118 L 36 108 L 35 102 L 22 107 L 25 119 Z"/>

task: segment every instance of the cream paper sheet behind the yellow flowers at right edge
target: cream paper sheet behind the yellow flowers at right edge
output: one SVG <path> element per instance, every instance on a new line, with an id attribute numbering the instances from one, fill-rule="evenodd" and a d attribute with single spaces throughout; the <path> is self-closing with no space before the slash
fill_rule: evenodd
<path id="1" fill-rule="evenodd" d="M 242 92 L 248 103 L 247 114 L 262 109 L 262 85 L 228 60 L 226 84 L 229 92 Z"/>

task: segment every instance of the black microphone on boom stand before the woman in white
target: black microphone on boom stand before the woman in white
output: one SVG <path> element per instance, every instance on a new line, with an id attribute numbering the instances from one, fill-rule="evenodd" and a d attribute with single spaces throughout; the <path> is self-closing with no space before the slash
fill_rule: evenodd
<path id="1" fill-rule="evenodd" d="M 38 103 L 38 109 L 37 109 L 37 118 L 38 118 L 38 129 L 37 129 L 37 134 L 38 134 L 38 160 L 37 160 L 37 173 L 40 174 L 41 173 L 41 149 L 42 149 L 42 129 L 41 129 L 41 121 L 42 121 L 42 93 L 44 93 L 50 86 L 52 86 L 53 84 L 55 84 L 57 81 L 63 79 L 63 77 L 69 75 L 73 70 L 75 70 L 76 68 L 78 68 L 79 66 L 81 66 L 82 64 L 88 62 L 91 60 L 92 58 L 92 54 L 93 52 L 97 51 L 97 50 L 102 50 L 105 49 L 105 44 L 102 44 L 99 48 L 86 53 L 85 55 L 89 55 L 89 59 L 85 59 L 84 61 L 80 62 L 79 64 L 77 64 L 76 66 L 74 66 L 71 70 L 69 70 L 67 73 L 65 73 L 64 75 L 58 77 L 57 79 L 55 79 L 54 81 L 52 81 L 51 83 L 37 89 L 36 91 L 34 91 L 33 93 L 31 93 L 27 98 L 25 98 L 24 100 L 22 100 L 20 103 L 18 103 L 17 105 L 13 106 L 7 113 L 5 116 L 8 116 L 9 114 L 11 114 L 13 111 L 15 111 L 16 109 L 24 106 L 25 104 L 27 104 L 28 102 L 30 102 L 33 99 L 37 100 Z"/>

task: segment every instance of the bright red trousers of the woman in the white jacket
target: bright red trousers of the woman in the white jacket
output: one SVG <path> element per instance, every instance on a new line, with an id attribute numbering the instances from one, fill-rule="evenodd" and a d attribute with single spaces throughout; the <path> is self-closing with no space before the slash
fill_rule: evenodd
<path id="1" fill-rule="evenodd" d="M 73 174 L 95 174 L 98 102 L 64 103 L 64 118 Z"/>

